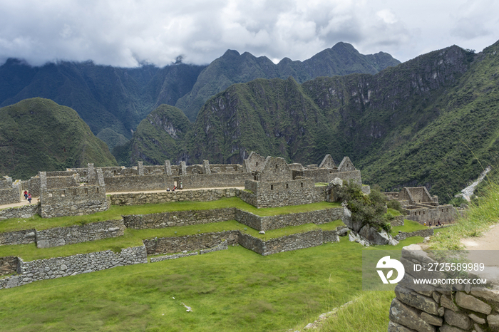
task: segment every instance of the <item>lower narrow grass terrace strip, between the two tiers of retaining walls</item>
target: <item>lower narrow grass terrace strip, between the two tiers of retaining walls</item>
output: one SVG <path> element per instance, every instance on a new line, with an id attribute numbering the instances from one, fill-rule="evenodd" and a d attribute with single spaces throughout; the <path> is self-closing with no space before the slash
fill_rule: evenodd
<path id="1" fill-rule="evenodd" d="M 143 239 L 153 239 L 154 237 L 182 237 L 184 235 L 222 232 L 229 230 L 240 230 L 243 233 L 250 234 L 259 239 L 267 241 L 277 237 L 284 237 L 290 234 L 309 232 L 314 229 L 330 230 L 337 226 L 343 225 L 341 220 L 335 220 L 327 224 L 303 224 L 300 226 L 289 226 L 281 229 L 273 229 L 259 234 L 256 229 L 247 227 L 245 224 L 240 224 L 235 220 L 227 222 L 214 222 L 210 224 L 200 224 L 192 226 L 168 227 L 160 229 L 125 229 L 125 234 L 122 237 L 110 239 L 102 239 L 92 242 L 82 242 L 78 244 L 68 244 L 61 247 L 38 249 L 36 244 L 18 244 L 13 246 L 0 246 L 0 257 L 2 256 L 19 256 L 25 261 L 33 261 L 35 259 L 48 259 L 51 257 L 71 256 L 75 254 L 87 254 L 89 252 L 113 250 L 119 252 L 123 248 L 137 247 L 143 244 Z"/>

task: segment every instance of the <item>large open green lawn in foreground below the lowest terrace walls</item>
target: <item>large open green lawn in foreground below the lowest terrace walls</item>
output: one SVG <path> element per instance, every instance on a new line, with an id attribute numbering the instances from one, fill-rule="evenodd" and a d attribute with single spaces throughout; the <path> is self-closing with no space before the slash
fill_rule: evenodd
<path id="1" fill-rule="evenodd" d="M 361 252 L 347 237 L 270 256 L 238 246 L 37 281 L 0 291 L 0 331 L 287 331 L 362 299 L 323 331 L 384 332 L 393 294 L 361 291 Z"/>

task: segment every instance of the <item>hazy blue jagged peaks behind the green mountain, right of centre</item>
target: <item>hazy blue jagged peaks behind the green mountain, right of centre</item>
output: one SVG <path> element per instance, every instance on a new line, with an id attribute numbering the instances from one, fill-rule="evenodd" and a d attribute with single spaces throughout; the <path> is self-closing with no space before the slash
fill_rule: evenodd
<path id="1" fill-rule="evenodd" d="M 175 106 L 184 111 L 189 120 L 196 120 L 202 105 L 230 85 L 245 83 L 256 78 L 287 78 L 303 83 L 319 76 L 347 75 L 350 73 L 378 73 L 400 61 L 388 53 L 364 56 L 349 43 L 336 43 L 305 61 L 284 58 L 274 64 L 266 56 L 255 57 L 250 53 L 228 50 L 207 66 L 197 78 L 192 90 L 179 98 Z"/>

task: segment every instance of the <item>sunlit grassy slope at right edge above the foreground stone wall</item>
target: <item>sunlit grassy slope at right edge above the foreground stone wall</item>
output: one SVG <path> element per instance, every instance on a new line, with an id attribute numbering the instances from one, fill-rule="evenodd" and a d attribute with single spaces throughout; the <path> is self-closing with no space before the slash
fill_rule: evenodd
<path id="1" fill-rule="evenodd" d="M 499 222 L 499 185 L 488 182 L 484 196 L 472 202 L 464 217 L 459 217 L 453 227 L 436 234 L 431 242 L 434 250 L 461 250 L 461 239 L 480 237 L 489 227 Z"/>

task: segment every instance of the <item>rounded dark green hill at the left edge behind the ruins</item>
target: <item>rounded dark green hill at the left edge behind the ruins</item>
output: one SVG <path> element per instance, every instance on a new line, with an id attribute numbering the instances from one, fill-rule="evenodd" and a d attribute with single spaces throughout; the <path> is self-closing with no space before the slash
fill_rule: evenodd
<path id="1" fill-rule="evenodd" d="M 76 111 L 43 98 L 0 108 L 0 175 L 27 180 L 40 170 L 117 165 Z"/>

